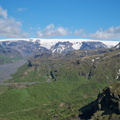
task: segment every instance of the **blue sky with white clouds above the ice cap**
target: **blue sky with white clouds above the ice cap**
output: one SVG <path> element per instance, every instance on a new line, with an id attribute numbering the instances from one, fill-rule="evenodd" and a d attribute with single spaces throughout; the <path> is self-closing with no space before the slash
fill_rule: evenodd
<path id="1" fill-rule="evenodd" d="M 0 39 L 120 40 L 120 0 L 0 0 Z"/>

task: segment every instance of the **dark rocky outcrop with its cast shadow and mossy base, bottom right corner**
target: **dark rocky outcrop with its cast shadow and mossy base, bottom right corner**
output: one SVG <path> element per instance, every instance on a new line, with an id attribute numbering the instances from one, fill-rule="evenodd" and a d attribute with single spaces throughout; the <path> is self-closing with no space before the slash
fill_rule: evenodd
<path id="1" fill-rule="evenodd" d="M 120 119 L 120 82 L 104 88 L 97 100 L 80 109 L 81 119 L 119 120 Z"/>

